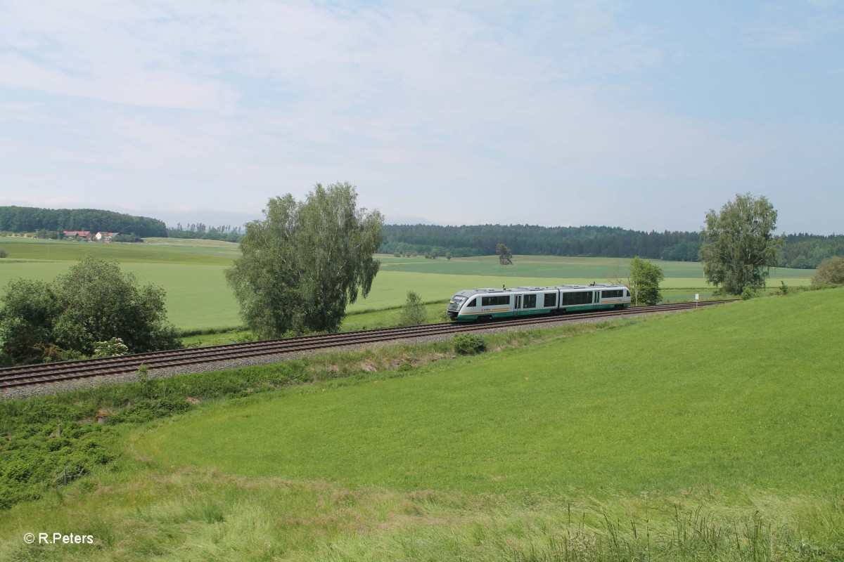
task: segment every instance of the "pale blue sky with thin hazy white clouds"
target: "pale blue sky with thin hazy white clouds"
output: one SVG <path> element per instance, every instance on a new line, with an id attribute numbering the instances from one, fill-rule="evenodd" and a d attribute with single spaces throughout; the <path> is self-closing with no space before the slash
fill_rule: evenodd
<path id="1" fill-rule="evenodd" d="M 842 233 L 844 6 L 0 3 L 0 205 L 239 224 L 357 185 L 387 222 Z"/>

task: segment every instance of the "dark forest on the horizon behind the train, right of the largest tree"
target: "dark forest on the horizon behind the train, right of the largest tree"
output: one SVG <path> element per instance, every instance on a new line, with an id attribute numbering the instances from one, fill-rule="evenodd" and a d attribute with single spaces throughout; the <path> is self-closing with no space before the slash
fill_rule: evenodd
<path id="1" fill-rule="evenodd" d="M 393 255 L 451 254 L 454 257 L 495 254 L 506 244 L 513 254 L 697 261 L 699 233 L 642 232 L 619 227 L 538 227 L 484 224 L 442 227 L 430 224 L 385 225 L 379 252 Z M 812 269 L 821 261 L 844 255 L 844 235 L 789 234 L 780 254 L 781 267 Z"/>

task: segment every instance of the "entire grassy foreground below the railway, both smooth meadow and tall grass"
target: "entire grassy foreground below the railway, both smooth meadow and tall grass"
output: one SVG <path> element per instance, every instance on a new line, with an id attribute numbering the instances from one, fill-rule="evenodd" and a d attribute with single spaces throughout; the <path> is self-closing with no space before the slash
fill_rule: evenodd
<path id="1" fill-rule="evenodd" d="M 0 404 L 123 416 L 0 558 L 840 560 L 842 329 L 844 289 L 799 292 Z M 22 540 L 54 530 L 96 541 Z"/>

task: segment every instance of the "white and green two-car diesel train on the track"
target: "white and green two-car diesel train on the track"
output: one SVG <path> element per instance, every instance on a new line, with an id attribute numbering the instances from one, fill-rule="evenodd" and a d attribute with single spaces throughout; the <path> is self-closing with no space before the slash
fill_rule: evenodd
<path id="1" fill-rule="evenodd" d="M 601 308 L 627 308 L 630 289 L 592 284 L 517 286 L 512 289 L 468 289 L 448 302 L 448 317 L 458 322 L 528 314 L 561 314 Z"/>

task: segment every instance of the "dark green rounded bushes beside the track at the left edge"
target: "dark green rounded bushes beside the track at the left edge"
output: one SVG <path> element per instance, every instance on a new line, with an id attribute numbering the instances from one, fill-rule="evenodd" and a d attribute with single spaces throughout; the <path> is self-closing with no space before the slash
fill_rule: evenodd
<path id="1" fill-rule="evenodd" d="M 165 292 L 138 286 L 115 261 L 79 260 L 51 283 L 9 284 L 0 308 L 0 351 L 7 363 L 90 356 L 96 342 L 120 338 L 133 353 L 181 345 L 167 322 Z"/>

